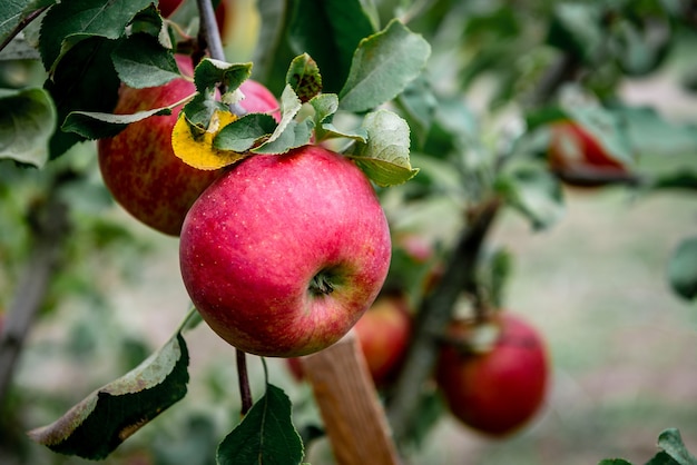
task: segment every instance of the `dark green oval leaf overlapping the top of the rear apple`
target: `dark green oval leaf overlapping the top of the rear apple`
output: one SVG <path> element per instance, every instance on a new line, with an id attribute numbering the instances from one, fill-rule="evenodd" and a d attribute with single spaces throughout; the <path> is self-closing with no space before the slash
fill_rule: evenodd
<path id="1" fill-rule="evenodd" d="M 161 86 L 180 76 L 171 50 L 145 33 L 121 40 L 111 60 L 120 80 L 135 89 Z"/>

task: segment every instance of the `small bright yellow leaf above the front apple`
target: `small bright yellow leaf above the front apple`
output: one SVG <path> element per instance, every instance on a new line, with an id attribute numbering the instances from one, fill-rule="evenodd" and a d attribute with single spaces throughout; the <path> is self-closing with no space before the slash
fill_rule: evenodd
<path id="1" fill-rule="evenodd" d="M 216 111 L 210 119 L 208 130 L 198 138 L 194 138 L 184 112 L 171 131 L 171 148 L 175 155 L 185 164 L 194 168 L 214 170 L 242 160 L 245 155 L 232 150 L 218 150 L 213 147 L 213 139 L 225 126 L 237 117 L 227 111 Z"/>

